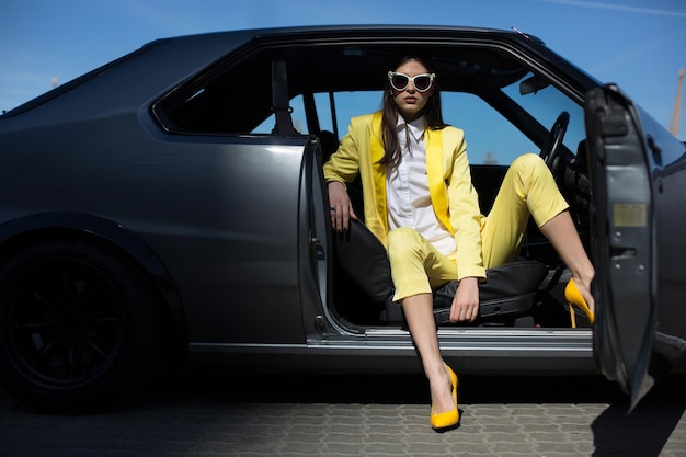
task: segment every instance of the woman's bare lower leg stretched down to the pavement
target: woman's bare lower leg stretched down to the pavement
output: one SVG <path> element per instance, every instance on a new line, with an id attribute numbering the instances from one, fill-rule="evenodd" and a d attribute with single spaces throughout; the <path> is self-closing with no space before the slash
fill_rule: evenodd
<path id="1" fill-rule="evenodd" d="M 434 413 L 451 411 L 455 409 L 453 386 L 438 347 L 432 296 L 419 294 L 407 297 L 402 300 L 402 309 L 414 345 L 420 352 L 424 374 L 428 378 L 433 411 Z"/>

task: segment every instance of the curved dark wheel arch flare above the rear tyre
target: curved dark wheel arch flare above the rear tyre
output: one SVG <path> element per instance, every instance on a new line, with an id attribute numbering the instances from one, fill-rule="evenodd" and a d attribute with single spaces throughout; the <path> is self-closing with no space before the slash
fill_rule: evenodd
<path id="1" fill-rule="evenodd" d="M 52 212 L 19 217 L 0 225 L 0 259 L 36 242 L 56 239 L 85 239 L 114 249 L 148 277 L 159 297 L 161 310 L 171 324 L 170 336 L 187 346 L 187 324 L 181 296 L 169 271 L 139 237 L 113 220 L 95 215 Z"/>

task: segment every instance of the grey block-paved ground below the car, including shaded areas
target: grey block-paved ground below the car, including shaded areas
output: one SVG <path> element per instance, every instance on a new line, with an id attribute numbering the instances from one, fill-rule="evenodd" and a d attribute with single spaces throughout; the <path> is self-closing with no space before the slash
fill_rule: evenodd
<path id="1" fill-rule="evenodd" d="M 0 456 L 686 457 L 685 382 L 663 380 L 627 415 L 626 396 L 599 377 L 462 376 L 461 425 L 439 434 L 422 376 L 193 369 L 80 415 L 0 390 Z"/>

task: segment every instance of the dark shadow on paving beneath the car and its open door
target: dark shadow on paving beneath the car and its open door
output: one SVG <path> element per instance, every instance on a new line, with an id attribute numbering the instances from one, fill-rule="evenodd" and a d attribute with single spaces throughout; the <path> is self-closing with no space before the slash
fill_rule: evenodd
<path id="1" fill-rule="evenodd" d="M 590 424 L 594 456 L 659 456 L 686 410 L 686 377 L 663 379 L 628 414 L 629 399 L 604 378 L 469 377 L 460 379 L 462 404 L 607 404 Z M 226 403 L 386 403 L 428 404 L 427 384 L 420 375 L 399 376 L 240 376 L 228 372 L 186 373 L 157 400 Z M 148 401 L 153 398 L 148 397 Z M 204 400 L 203 400 L 204 399 Z"/>

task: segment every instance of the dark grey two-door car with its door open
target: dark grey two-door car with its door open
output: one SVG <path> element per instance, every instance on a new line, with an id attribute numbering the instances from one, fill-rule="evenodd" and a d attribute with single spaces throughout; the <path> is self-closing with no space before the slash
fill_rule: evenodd
<path id="1" fill-rule="evenodd" d="M 455 369 L 599 370 L 632 404 L 684 370 L 683 142 L 530 35 L 322 26 L 159 39 L 0 115 L 5 388 L 71 410 L 186 359 L 421 370 L 400 308 L 361 284 L 364 256 L 341 261 L 321 172 L 400 55 L 437 68 L 482 210 L 512 158 L 540 153 L 597 271 L 595 323 L 578 328 L 535 227 L 510 273 L 489 272 L 473 324 L 446 322 L 436 290 Z"/>

